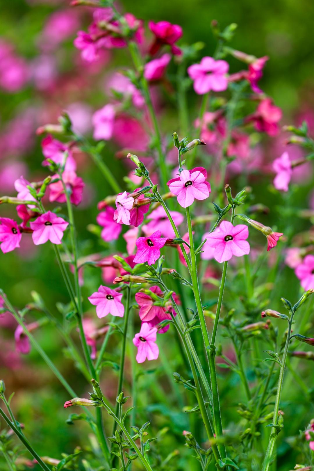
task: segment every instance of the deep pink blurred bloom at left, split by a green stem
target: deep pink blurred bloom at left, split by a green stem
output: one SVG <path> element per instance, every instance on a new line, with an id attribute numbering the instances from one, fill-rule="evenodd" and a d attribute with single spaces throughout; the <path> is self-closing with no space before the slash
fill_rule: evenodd
<path id="1" fill-rule="evenodd" d="M 53 178 L 59 178 L 59 176 L 54 175 Z M 78 177 L 76 173 L 71 170 L 65 170 L 62 174 L 62 179 L 66 189 L 71 192 L 71 203 L 77 206 L 82 201 L 82 193 L 85 183 L 83 182 L 81 177 Z M 56 181 L 56 183 L 51 183 L 49 185 L 49 201 L 57 201 L 58 203 L 66 202 L 64 187 L 61 180 Z"/>

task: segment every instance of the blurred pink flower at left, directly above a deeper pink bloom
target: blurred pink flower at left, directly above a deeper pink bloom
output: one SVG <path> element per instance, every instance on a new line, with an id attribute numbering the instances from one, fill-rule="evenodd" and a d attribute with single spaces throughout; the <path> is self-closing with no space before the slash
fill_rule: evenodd
<path id="1" fill-rule="evenodd" d="M 64 144 L 63 142 L 54 139 L 50 134 L 46 136 L 41 141 L 41 148 L 42 153 L 44 154 L 45 159 L 53 160 L 56 164 L 62 165 L 65 160 L 64 153 L 67 153 L 67 158 L 65 161 L 65 170 L 75 171 L 76 170 L 76 162 L 74 160 L 71 148 L 69 145 Z M 42 162 L 43 166 L 49 165 L 47 160 Z"/>

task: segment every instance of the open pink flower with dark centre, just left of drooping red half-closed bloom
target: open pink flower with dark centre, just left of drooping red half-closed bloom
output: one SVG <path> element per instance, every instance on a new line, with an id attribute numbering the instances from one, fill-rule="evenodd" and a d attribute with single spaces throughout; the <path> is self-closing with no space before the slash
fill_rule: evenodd
<path id="1" fill-rule="evenodd" d="M 233 255 L 247 255 L 250 245 L 245 239 L 248 237 L 249 229 L 245 224 L 233 226 L 229 221 L 222 221 L 218 230 L 207 235 L 207 244 L 215 249 L 214 259 L 222 263 L 230 260 Z"/>

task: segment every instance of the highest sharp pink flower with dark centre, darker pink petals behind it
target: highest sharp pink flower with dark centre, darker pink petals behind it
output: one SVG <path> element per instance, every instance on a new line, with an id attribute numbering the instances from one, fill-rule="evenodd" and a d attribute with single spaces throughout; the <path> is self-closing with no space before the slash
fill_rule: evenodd
<path id="1" fill-rule="evenodd" d="M 178 203 L 187 208 L 194 199 L 205 200 L 209 197 L 210 185 L 206 181 L 207 171 L 203 167 L 183 170 L 179 178 L 169 180 L 167 185 L 171 193 L 177 195 Z"/>

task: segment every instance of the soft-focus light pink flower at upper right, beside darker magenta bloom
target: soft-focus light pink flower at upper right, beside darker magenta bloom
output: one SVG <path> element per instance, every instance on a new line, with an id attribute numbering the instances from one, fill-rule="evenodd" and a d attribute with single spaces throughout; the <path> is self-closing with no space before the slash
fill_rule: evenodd
<path id="1" fill-rule="evenodd" d="M 223 91 L 228 88 L 228 80 L 225 74 L 229 70 L 229 64 L 224 60 L 203 57 L 200 64 L 190 65 L 187 73 L 193 80 L 196 93 L 204 95 L 210 90 Z"/>

